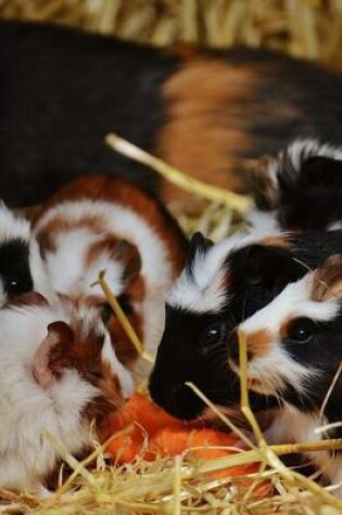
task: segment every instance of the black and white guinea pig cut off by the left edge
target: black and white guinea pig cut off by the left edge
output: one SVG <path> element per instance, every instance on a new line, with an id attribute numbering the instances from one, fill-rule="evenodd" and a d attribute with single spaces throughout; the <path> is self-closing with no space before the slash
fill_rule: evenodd
<path id="1" fill-rule="evenodd" d="M 30 291 L 52 295 L 30 224 L 0 203 L 0 306 Z"/>

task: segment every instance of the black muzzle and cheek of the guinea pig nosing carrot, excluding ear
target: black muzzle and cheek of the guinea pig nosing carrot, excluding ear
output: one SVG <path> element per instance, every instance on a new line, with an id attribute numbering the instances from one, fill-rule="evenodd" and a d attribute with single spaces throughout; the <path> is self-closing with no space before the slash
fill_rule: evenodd
<path id="1" fill-rule="evenodd" d="M 186 382 L 195 384 L 216 404 L 240 402 L 240 381 L 229 370 L 226 342 L 213 343 L 212 350 L 203 345 L 205 331 L 216 323 L 228 331 L 223 314 L 195 314 L 167 307 L 150 392 L 154 402 L 178 419 L 195 419 L 205 409 Z M 251 403 L 255 411 L 276 405 L 274 399 L 257 394 L 251 395 Z"/>

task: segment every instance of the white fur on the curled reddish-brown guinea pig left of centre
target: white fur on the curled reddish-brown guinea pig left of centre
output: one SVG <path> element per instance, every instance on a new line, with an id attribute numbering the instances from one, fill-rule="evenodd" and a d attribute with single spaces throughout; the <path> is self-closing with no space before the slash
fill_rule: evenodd
<path id="1" fill-rule="evenodd" d="M 63 291 L 71 296 L 103 295 L 100 286 L 91 288 L 90 285 L 98 279 L 99 272 L 105 270 L 110 288 L 115 295 L 121 295 L 125 288 L 121 261 L 103 252 L 96 262 L 86 267 L 86 253 L 103 234 L 113 234 L 116 239 L 131 242 L 140 254 L 141 275 L 144 281 L 144 298 L 140 305 L 144 347 L 148 352 L 154 355 L 165 323 L 165 295 L 173 280 L 167 244 L 131 208 L 104 201 L 61 203 L 45 214 L 38 221 L 35 233 L 43 232 L 45 227 L 55 218 L 65 219 L 71 224 L 77 226 L 89 217 L 94 218 L 101 227 L 99 233 L 91 227 L 62 232 L 55 242 L 56 250 L 47 253 L 47 267 L 52 285 L 54 289 Z M 148 372 L 145 364 L 140 369 L 138 372 L 145 375 Z M 126 389 L 129 389 L 128 386 Z"/>

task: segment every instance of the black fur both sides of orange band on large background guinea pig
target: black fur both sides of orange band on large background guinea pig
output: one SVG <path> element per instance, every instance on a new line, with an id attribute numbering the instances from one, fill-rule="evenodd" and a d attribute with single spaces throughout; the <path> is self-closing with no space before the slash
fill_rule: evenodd
<path id="1" fill-rule="evenodd" d="M 256 78 L 233 105 L 245 141 L 243 155 L 227 142 L 227 155 L 240 163 L 235 172 L 244 172 L 240 158 L 275 155 L 297 136 L 338 138 L 338 73 L 266 50 L 201 50 L 198 56 Z M 168 107 L 162 89 L 187 65 L 180 57 L 113 37 L 2 21 L 0 65 L 0 186 L 9 205 L 39 203 L 71 179 L 99 171 L 157 191 L 155 173 L 112 152 L 103 139 L 115 131 L 156 152 Z M 230 111 L 228 104 L 227 119 Z"/>

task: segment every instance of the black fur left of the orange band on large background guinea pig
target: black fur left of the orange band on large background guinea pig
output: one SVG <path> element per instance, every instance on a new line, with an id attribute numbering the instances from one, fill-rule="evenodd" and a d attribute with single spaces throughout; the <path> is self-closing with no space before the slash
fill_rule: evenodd
<path id="1" fill-rule="evenodd" d="M 98 172 L 156 192 L 156 175 L 110 150 L 104 137 L 114 131 L 153 151 L 164 118 L 160 88 L 176 57 L 113 37 L 2 21 L 0 63 L 7 204 L 37 204 L 71 179 Z"/>

